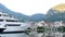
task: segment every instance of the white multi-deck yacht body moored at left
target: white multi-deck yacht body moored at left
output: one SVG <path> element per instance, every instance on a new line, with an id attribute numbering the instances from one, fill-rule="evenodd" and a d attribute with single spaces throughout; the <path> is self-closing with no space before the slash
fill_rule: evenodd
<path id="1" fill-rule="evenodd" d="M 21 32 L 24 30 L 25 23 L 18 22 L 17 18 L 10 17 L 9 14 L 0 12 L 0 28 L 4 28 L 3 32 Z"/>

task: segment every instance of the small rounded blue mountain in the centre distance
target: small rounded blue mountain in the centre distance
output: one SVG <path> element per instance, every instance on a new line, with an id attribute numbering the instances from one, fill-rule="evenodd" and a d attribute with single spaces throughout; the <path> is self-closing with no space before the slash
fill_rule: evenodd
<path id="1" fill-rule="evenodd" d="M 40 21 L 43 21 L 44 14 L 37 13 L 37 14 L 31 15 L 29 18 L 31 22 L 40 22 Z"/>

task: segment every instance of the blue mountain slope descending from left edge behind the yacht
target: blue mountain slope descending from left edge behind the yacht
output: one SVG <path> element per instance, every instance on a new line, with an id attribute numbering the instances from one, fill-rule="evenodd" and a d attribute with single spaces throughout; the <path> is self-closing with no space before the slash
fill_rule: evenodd
<path id="1" fill-rule="evenodd" d="M 9 10 L 6 7 L 4 7 L 1 3 L 0 3 L 0 11 L 3 11 L 5 13 L 8 13 L 10 16 L 14 16 L 14 17 L 18 18 L 20 21 L 23 21 L 23 22 L 27 21 L 27 18 L 29 17 L 29 16 L 27 16 L 25 14 L 11 11 L 11 10 Z"/>

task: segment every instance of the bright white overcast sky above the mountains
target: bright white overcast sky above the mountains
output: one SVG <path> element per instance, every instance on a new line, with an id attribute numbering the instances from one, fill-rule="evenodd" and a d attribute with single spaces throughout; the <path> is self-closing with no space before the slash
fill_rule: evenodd
<path id="1" fill-rule="evenodd" d="M 46 14 L 52 7 L 65 3 L 65 0 L 0 0 L 8 9 L 26 15 Z"/>

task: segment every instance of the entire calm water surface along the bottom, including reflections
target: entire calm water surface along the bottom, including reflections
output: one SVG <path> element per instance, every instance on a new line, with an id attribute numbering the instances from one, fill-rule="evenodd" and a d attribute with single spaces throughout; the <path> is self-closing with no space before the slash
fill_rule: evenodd
<path id="1" fill-rule="evenodd" d="M 28 33 L 20 33 L 20 34 L 0 34 L 0 36 L 4 37 L 65 37 L 65 33 L 58 30 L 44 30 L 42 33 L 38 33 L 36 29 L 32 29 Z"/>

